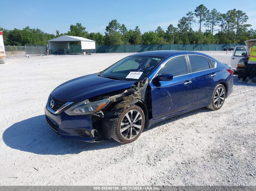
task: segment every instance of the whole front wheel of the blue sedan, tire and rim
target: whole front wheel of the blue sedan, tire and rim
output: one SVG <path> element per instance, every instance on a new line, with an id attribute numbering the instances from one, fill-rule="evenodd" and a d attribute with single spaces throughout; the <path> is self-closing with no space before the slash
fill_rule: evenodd
<path id="1" fill-rule="evenodd" d="M 131 122 L 129 122 L 128 117 Z M 123 125 L 121 125 L 121 123 Z M 145 115 L 143 110 L 140 107 L 133 105 L 125 109 L 120 116 L 115 119 L 111 137 L 122 144 L 134 142 L 143 131 L 144 125 Z"/>

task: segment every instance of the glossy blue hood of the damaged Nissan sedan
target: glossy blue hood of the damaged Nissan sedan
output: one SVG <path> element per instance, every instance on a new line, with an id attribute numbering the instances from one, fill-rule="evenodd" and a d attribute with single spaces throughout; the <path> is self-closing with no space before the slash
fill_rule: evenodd
<path id="1" fill-rule="evenodd" d="M 59 85 L 52 91 L 51 95 L 58 100 L 79 102 L 101 94 L 129 88 L 135 82 L 112 80 L 99 77 L 96 74 L 90 74 Z"/>

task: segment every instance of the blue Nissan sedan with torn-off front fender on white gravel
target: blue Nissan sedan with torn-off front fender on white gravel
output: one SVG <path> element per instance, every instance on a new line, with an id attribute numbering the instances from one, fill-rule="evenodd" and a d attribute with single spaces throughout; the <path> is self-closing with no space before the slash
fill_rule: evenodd
<path id="1" fill-rule="evenodd" d="M 126 144 L 170 117 L 201 107 L 220 109 L 232 90 L 233 70 L 211 56 L 149 51 L 59 85 L 45 116 L 62 138 Z"/>

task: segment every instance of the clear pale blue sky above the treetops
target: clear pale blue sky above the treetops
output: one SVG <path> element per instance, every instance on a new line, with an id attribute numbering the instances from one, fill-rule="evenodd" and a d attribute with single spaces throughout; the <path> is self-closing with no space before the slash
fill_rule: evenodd
<path id="1" fill-rule="evenodd" d="M 209 10 L 217 9 L 221 13 L 237 9 L 245 12 L 248 22 L 256 29 L 256 3 L 248 6 L 248 1 L 214 0 L 214 1 L 171 1 L 171 0 L 129 0 L 129 1 L 2 1 L 0 11 L 0 27 L 5 29 L 39 28 L 44 32 L 55 34 L 56 30 L 66 33 L 71 24 L 81 23 L 86 30 L 100 32 L 104 35 L 105 28 L 112 19 L 125 24 L 127 29 L 139 26 L 142 33 L 156 30 L 161 26 L 164 30 L 170 24 L 177 27 L 178 20 L 186 16 L 188 11 L 203 4 Z M 198 21 L 198 18 L 195 18 Z M 198 30 L 198 23 L 192 25 Z M 205 30 L 206 28 L 203 28 Z"/>

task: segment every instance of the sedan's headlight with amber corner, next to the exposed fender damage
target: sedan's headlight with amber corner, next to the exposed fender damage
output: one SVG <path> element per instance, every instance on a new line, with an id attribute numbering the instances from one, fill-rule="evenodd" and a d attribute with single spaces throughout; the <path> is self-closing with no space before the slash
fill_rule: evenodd
<path id="1" fill-rule="evenodd" d="M 68 115 L 88 115 L 94 114 L 102 110 L 110 101 L 110 98 L 89 102 L 88 100 L 75 104 L 73 107 L 67 109 L 65 113 Z"/>

